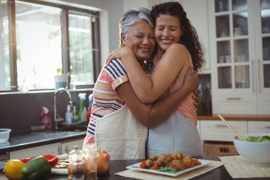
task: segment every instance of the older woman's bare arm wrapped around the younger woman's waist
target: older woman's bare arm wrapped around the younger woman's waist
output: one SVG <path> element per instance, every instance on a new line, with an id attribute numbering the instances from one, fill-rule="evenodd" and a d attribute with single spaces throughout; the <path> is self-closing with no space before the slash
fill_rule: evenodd
<path id="1" fill-rule="evenodd" d="M 155 103 L 142 103 L 134 93 L 129 81 L 117 86 L 116 90 L 135 118 L 143 125 L 152 127 L 169 115 L 189 93 L 198 88 L 198 76 L 191 71 L 192 68 L 189 68 L 184 81 L 193 83 L 184 83 L 181 88 Z"/>

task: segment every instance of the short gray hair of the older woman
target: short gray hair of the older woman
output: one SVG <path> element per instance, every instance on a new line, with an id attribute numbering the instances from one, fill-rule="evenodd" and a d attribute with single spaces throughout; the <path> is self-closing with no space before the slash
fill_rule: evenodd
<path id="1" fill-rule="evenodd" d="M 135 23 L 138 20 L 145 20 L 149 23 L 149 25 L 154 28 L 154 21 L 151 17 L 151 12 L 149 9 L 145 7 L 140 7 L 139 9 L 132 8 L 124 12 L 119 20 L 119 47 L 123 47 L 123 43 L 121 40 L 121 32 L 127 36 L 127 32 L 136 25 Z"/>

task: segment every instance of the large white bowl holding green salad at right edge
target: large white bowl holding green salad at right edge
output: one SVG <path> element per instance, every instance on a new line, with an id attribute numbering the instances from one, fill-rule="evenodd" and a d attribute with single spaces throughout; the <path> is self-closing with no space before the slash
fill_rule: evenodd
<path id="1" fill-rule="evenodd" d="M 248 136 L 263 136 L 269 133 L 240 134 L 242 138 Z M 249 142 L 233 137 L 233 144 L 237 152 L 251 164 L 256 166 L 270 166 L 270 142 Z"/>

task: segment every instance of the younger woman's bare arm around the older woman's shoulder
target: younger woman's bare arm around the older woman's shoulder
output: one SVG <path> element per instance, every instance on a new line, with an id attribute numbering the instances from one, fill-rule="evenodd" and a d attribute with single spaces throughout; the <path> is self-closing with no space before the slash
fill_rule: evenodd
<path id="1" fill-rule="evenodd" d="M 111 57 L 121 58 L 128 78 L 138 98 L 149 103 L 157 99 L 188 67 L 187 49 L 179 43 L 172 44 L 162 57 L 151 77 L 142 70 L 133 52 L 128 47 L 115 49 Z"/>

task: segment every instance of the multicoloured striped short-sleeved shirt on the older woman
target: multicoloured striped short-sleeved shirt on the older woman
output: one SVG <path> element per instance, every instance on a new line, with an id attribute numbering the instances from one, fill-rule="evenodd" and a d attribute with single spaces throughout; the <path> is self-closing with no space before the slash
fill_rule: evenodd
<path id="1" fill-rule="evenodd" d="M 93 103 L 87 134 L 94 139 L 96 119 L 109 114 L 124 105 L 116 87 L 128 81 L 123 62 L 113 59 L 108 66 L 103 66 L 93 89 Z"/>

